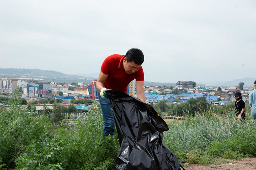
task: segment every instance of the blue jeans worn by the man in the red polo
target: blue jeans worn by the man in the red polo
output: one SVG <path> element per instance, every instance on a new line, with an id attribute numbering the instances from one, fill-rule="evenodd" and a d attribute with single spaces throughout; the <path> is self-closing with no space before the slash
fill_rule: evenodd
<path id="1" fill-rule="evenodd" d="M 100 93 L 98 93 L 98 97 L 104 122 L 102 137 L 105 138 L 105 136 L 109 135 L 113 136 L 115 130 L 115 118 L 111 109 L 111 103 L 109 98 L 101 97 Z"/>

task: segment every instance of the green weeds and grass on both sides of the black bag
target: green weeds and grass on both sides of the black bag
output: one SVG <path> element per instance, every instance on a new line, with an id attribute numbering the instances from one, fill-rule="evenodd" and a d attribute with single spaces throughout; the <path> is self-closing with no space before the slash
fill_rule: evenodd
<path id="1" fill-rule="evenodd" d="M 22 110 L 18 100 L 14 94 L 8 101 L 10 107 L 0 112 L 0 169 L 114 168 L 119 150 L 117 132 L 102 140 L 100 109 L 90 109 L 86 119 L 56 123 L 47 115 L 34 117 L 33 108 Z M 255 156 L 256 126 L 252 126 L 250 114 L 244 124 L 232 115 L 232 110 L 222 115 L 208 110 L 186 120 L 170 121 L 164 142 L 181 164 Z"/>

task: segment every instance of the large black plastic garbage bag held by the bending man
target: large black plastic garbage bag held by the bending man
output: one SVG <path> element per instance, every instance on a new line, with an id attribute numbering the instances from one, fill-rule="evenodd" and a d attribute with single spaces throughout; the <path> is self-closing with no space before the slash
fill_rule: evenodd
<path id="1" fill-rule="evenodd" d="M 184 169 L 163 142 L 163 132 L 169 128 L 153 107 L 121 91 L 104 93 L 112 105 L 120 143 L 115 169 Z"/>

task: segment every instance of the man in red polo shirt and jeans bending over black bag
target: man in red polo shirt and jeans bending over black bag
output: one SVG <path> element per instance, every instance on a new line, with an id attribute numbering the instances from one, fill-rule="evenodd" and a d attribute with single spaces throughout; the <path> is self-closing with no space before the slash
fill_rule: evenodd
<path id="1" fill-rule="evenodd" d="M 126 93 L 129 83 L 136 79 L 137 98 L 145 103 L 144 72 L 141 67 L 143 62 L 143 52 L 134 48 L 128 50 L 126 55 L 114 54 L 104 60 L 96 82 L 96 88 L 100 91 L 99 102 L 104 121 L 103 138 L 113 135 L 115 130 L 111 103 L 104 94 L 104 90 L 115 89 Z"/>

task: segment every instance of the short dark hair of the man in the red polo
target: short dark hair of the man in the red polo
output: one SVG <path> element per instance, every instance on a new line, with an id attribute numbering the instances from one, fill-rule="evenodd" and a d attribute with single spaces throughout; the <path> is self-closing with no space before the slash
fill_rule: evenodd
<path id="1" fill-rule="evenodd" d="M 127 62 L 134 62 L 135 64 L 142 64 L 144 62 L 144 54 L 140 49 L 132 48 L 125 54 Z"/>

